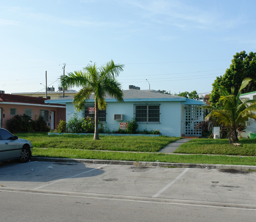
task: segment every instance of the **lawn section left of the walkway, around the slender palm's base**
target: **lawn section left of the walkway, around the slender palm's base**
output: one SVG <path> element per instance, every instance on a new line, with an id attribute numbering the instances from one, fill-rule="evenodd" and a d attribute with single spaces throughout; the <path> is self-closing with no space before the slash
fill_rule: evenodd
<path id="1" fill-rule="evenodd" d="M 158 152 L 180 137 L 148 136 L 100 136 L 94 140 L 93 135 L 47 135 L 44 133 L 18 134 L 19 138 L 28 139 L 33 147 L 56 149 L 115 150 L 135 152 Z"/>

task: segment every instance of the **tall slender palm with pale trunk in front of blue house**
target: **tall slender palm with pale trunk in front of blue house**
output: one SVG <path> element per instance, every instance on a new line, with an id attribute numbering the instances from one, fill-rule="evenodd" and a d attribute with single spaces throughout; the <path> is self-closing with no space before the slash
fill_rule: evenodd
<path id="1" fill-rule="evenodd" d="M 96 64 L 88 64 L 83 70 L 67 73 L 61 79 L 63 88 L 67 87 L 82 87 L 78 94 L 74 96 L 74 107 L 80 112 L 85 108 L 86 102 L 93 95 L 95 100 L 95 132 L 93 139 L 100 139 L 98 135 L 98 110 L 106 109 L 107 103 L 105 96 L 123 101 L 123 93 L 121 84 L 116 77 L 123 71 L 124 65 L 115 64 L 113 60 L 107 62 L 105 65 L 96 67 Z"/>

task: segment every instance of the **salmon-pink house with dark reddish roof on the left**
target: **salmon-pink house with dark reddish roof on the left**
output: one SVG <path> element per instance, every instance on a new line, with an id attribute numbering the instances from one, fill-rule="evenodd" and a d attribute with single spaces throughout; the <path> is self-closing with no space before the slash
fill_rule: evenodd
<path id="1" fill-rule="evenodd" d="M 47 104 L 45 98 L 0 93 L 0 127 L 6 128 L 7 120 L 26 114 L 36 120 L 43 116 L 50 129 L 56 129 L 59 120 L 66 121 L 66 105 Z"/>

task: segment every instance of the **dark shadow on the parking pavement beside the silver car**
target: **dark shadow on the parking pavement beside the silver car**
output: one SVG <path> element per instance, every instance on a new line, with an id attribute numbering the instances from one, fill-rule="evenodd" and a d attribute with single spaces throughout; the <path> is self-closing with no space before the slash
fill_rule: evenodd
<path id="1" fill-rule="evenodd" d="M 3 182 L 52 182 L 66 178 L 86 178 L 98 176 L 104 173 L 104 169 L 87 167 L 89 164 L 74 161 L 47 162 L 29 161 L 6 161 L 0 163 L 0 184 Z M 91 164 L 90 164 L 91 166 Z"/>

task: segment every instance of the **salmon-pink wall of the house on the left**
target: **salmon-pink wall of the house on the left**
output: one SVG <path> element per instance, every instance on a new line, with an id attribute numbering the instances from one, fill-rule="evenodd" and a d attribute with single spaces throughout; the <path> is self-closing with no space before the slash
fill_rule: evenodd
<path id="1" fill-rule="evenodd" d="M 32 119 L 36 119 L 36 115 L 40 115 L 40 110 L 49 110 L 49 123 L 51 122 L 51 111 L 55 112 L 54 116 L 54 128 L 56 129 L 56 126 L 59 123 L 59 120 L 66 120 L 65 116 L 65 107 L 64 108 L 58 108 L 58 107 L 50 107 L 50 106 L 39 106 L 37 104 L 35 105 L 19 105 L 18 103 L 15 104 L 1 104 L 0 108 L 2 108 L 2 127 L 7 127 L 7 120 L 13 118 L 15 115 L 10 114 L 10 108 L 16 108 L 17 109 L 17 115 L 23 115 L 25 112 L 25 109 L 32 109 Z"/>

